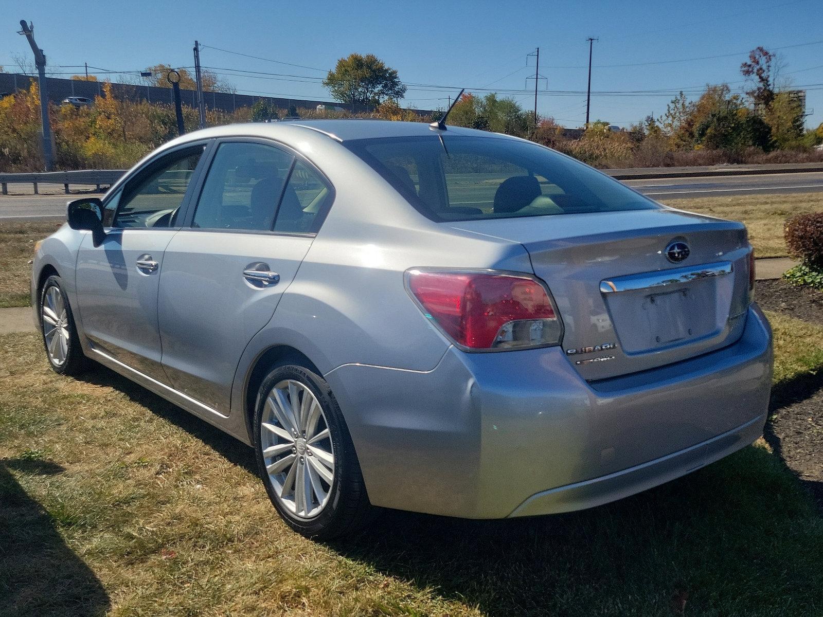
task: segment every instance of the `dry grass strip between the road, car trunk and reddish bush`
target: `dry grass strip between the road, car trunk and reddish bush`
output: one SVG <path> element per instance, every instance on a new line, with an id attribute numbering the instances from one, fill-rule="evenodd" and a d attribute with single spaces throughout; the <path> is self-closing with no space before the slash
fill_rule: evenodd
<path id="1" fill-rule="evenodd" d="M 823 193 L 700 197 L 672 199 L 665 203 L 678 210 L 740 220 L 749 230 L 749 241 L 757 257 L 786 257 L 783 222 L 796 214 L 823 212 Z"/>

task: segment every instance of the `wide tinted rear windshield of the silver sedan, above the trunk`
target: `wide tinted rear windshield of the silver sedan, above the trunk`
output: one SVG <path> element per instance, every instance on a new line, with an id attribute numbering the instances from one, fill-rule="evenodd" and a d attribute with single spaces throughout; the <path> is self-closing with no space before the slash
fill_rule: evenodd
<path id="1" fill-rule="evenodd" d="M 344 145 L 433 220 L 654 210 L 656 203 L 548 148 L 500 137 L 388 137 Z"/>

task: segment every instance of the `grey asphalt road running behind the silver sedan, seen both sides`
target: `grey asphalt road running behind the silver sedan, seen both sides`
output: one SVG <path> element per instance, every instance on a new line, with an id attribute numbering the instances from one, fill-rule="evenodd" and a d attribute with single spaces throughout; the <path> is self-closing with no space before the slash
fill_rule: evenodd
<path id="1" fill-rule="evenodd" d="M 732 195 L 823 192 L 823 172 L 763 174 L 722 178 L 625 180 L 640 193 L 658 201 Z M 89 195 L 86 193 L 84 196 Z M 0 197 L 0 219 L 39 220 L 65 216 L 70 195 L 9 195 Z"/>

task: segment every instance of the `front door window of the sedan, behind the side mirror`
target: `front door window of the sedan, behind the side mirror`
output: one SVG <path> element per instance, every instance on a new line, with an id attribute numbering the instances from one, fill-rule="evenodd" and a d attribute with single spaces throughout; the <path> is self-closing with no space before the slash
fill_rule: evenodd
<path id="1" fill-rule="evenodd" d="M 203 149 L 164 156 L 129 182 L 119 196 L 114 227 L 170 227 Z"/>

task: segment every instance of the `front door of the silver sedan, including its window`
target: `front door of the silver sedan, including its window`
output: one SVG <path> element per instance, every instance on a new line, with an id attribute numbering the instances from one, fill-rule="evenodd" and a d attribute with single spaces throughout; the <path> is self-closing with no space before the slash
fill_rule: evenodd
<path id="1" fill-rule="evenodd" d="M 91 346 L 162 383 L 157 292 L 165 248 L 203 146 L 162 155 L 105 203 L 103 244 L 86 234 L 77 254 L 77 299 Z"/>

